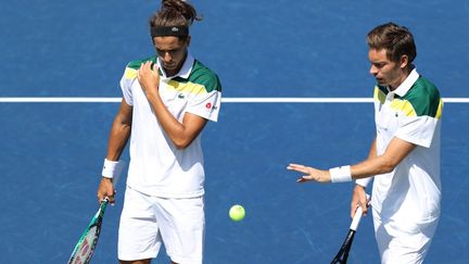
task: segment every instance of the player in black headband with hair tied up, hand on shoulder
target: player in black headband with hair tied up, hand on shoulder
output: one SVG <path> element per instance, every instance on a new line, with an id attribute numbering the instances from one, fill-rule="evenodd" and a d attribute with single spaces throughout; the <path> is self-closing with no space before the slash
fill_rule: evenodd
<path id="1" fill-rule="evenodd" d="M 163 0 L 150 20 L 156 55 L 128 63 L 98 199 L 114 201 L 112 177 L 130 138 L 130 164 L 118 232 L 121 263 L 150 263 L 164 243 L 172 263 L 201 264 L 204 248 L 204 161 L 201 133 L 216 122 L 217 75 L 188 48 L 201 20 L 181 0 Z M 131 136 L 130 136 L 131 135 Z"/>

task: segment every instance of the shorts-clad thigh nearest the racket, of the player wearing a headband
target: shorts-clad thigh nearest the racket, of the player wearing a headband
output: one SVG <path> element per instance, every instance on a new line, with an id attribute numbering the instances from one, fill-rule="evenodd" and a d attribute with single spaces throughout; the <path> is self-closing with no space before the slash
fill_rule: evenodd
<path id="1" fill-rule="evenodd" d="M 161 244 L 152 198 L 127 188 L 118 230 L 118 259 L 152 259 L 157 255 Z"/>

